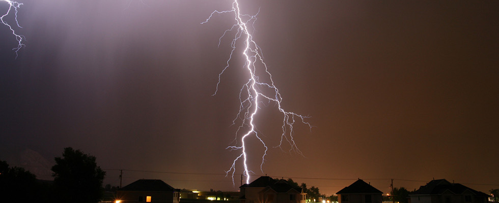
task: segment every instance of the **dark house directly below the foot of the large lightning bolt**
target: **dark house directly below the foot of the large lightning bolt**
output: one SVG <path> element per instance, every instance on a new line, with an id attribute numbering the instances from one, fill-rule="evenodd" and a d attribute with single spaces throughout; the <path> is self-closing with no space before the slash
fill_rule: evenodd
<path id="1" fill-rule="evenodd" d="M 240 188 L 241 203 L 305 203 L 307 193 L 288 181 L 262 176 Z"/>

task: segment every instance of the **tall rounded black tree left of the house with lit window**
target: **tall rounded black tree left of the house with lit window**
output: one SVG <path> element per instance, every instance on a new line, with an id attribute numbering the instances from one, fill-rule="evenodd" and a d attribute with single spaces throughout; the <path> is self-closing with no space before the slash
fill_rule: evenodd
<path id="1" fill-rule="evenodd" d="M 98 202 L 103 195 L 103 172 L 95 162 L 95 156 L 68 147 L 63 157 L 56 157 L 52 166 L 55 197 L 60 202 Z"/>

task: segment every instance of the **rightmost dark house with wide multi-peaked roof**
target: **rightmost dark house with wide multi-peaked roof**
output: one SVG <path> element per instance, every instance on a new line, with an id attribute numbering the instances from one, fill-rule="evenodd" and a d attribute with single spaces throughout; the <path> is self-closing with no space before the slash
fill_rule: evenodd
<path id="1" fill-rule="evenodd" d="M 432 180 L 409 194 L 411 203 L 486 203 L 488 194 L 446 179 Z"/>

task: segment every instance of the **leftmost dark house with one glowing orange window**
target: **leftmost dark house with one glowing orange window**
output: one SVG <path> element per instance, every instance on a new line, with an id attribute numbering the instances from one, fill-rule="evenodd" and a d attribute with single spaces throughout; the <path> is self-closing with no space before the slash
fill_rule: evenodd
<path id="1" fill-rule="evenodd" d="M 117 203 L 167 202 L 179 203 L 180 190 L 162 180 L 137 180 L 116 192 Z"/>

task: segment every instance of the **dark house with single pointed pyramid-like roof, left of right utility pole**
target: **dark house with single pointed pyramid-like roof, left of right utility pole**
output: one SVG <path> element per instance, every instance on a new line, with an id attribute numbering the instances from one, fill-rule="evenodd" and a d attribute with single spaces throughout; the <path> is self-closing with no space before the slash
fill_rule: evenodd
<path id="1" fill-rule="evenodd" d="M 381 203 L 383 201 L 383 192 L 361 179 L 336 194 L 338 194 L 339 203 Z"/>

